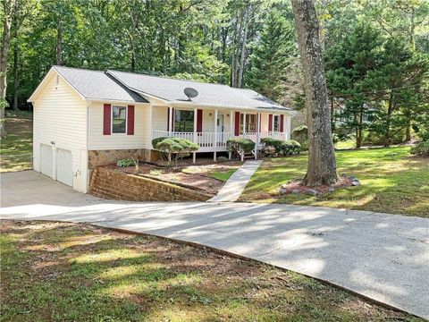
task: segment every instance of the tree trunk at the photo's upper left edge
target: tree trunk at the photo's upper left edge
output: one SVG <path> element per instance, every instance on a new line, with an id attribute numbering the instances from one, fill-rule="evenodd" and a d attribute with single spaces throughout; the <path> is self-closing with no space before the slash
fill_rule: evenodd
<path id="1" fill-rule="evenodd" d="M 13 1 L 4 0 L 4 18 L 3 18 L 3 39 L 0 48 L 0 137 L 4 137 L 4 116 L 6 107 L 6 88 L 7 88 L 7 54 L 11 43 L 11 11 Z"/>

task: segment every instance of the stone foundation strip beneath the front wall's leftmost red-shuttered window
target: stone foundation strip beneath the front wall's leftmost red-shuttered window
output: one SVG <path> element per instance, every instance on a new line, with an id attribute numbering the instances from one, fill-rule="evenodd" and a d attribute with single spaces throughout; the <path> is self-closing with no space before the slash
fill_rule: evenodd
<path id="1" fill-rule="evenodd" d="M 89 150 L 88 167 L 92 170 L 99 165 L 115 165 L 118 160 L 130 157 L 139 157 L 139 161 L 154 162 L 157 160 L 157 153 L 147 148 Z"/>

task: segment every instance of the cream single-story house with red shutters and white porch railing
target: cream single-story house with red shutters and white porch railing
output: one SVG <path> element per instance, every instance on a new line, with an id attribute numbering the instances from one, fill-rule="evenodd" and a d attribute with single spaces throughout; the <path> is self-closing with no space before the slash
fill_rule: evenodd
<path id="1" fill-rule="evenodd" d="M 198 96 L 189 99 L 186 88 Z M 290 139 L 294 114 L 250 89 L 63 66 L 47 72 L 29 102 L 34 169 L 83 192 L 97 165 L 154 160 L 155 138 L 192 140 L 215 158 L 234 136 Z"/>

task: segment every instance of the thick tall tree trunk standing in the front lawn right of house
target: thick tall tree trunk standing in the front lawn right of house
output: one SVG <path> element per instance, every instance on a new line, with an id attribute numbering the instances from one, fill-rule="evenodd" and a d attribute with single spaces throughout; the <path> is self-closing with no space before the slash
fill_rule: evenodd
<path id="1" fill-rule="evenodd" d="M 308 166 L 303 183 L 311 187 L 330 185 L 337 182 L 338 174 L 315 5 L 312 1 L 292 0 L 292 8 L 306 91 Z"/>

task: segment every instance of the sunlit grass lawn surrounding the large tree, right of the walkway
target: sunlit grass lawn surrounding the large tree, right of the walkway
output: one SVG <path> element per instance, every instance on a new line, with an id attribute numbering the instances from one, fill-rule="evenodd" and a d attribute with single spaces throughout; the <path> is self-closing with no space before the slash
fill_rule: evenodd
<path id="1" fill-rule="evenodd" d="M 351 208 L 429 217 L 429 160 L 411 157 L 409 147 L 337 151 L 339 174 L 356 175 L 361 185 L 313 197 L 277 193 L 282 183 L 303 177 L 307 155 L 265 159 L 241 200 Z"/>

